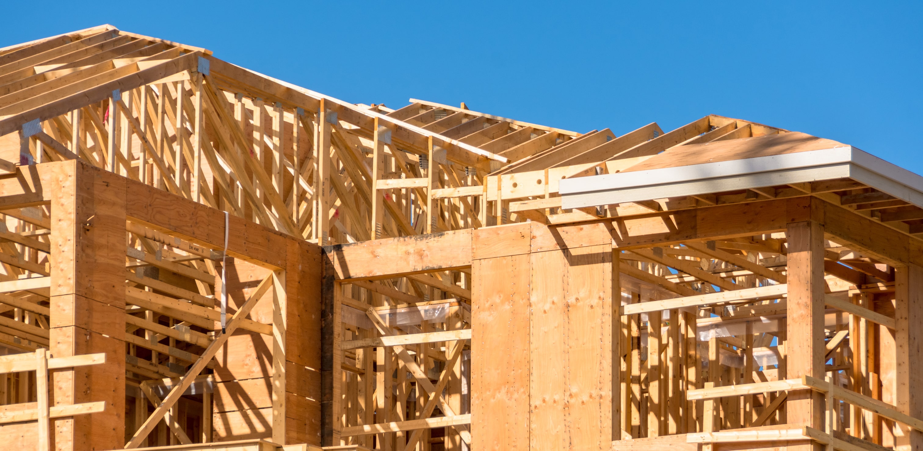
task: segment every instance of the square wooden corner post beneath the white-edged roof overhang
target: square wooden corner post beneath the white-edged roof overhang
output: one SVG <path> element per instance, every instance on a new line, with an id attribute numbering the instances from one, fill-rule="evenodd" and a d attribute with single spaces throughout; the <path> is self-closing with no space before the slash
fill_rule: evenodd
<path id="1" fill-rule="evenodd" d="M 809 375 L 823 379 L 823 226 L 815 221 L 788 224 L 788 310 L 786 316 L 786 378 Z M 781 376 L 780 376 L 781 377 Z M 821 394 L 811 390 L 788 393 L 788 427 L 821 429 Z M 791 447 L 791 446 L 790 446 Z M 812 445 L 797 445 L 808 450 Z M 813 445 L 820 448 L 820 445 Z"/>

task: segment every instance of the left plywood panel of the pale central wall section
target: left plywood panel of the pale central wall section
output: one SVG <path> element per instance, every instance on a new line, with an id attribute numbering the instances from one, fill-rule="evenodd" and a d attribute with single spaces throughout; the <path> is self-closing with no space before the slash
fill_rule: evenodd
<path id="1" fill-rule="evenodd" d="M 529 255 L 474 260 L 473 449 L 529 449 Z"/>

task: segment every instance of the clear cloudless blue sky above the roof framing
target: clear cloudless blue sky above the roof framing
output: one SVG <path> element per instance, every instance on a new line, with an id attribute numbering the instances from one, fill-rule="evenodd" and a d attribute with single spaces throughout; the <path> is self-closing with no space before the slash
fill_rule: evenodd
<path id="1" fill-rule="evenodd" d="M 345 101 L 617 135 L 715 113 L 923 173 L 923 2 L 150 5 L 9 2 L 0 46 L 110 23 Z"/>

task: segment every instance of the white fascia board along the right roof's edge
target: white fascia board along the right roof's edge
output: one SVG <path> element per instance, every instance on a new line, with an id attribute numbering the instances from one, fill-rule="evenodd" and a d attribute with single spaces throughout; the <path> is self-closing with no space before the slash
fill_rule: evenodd
<path id="1" fill-rule="evenodd" d="M 923 208 L 923 177 L 851 146 L 560 181 L 561 208 L 851 178 Z"/>

